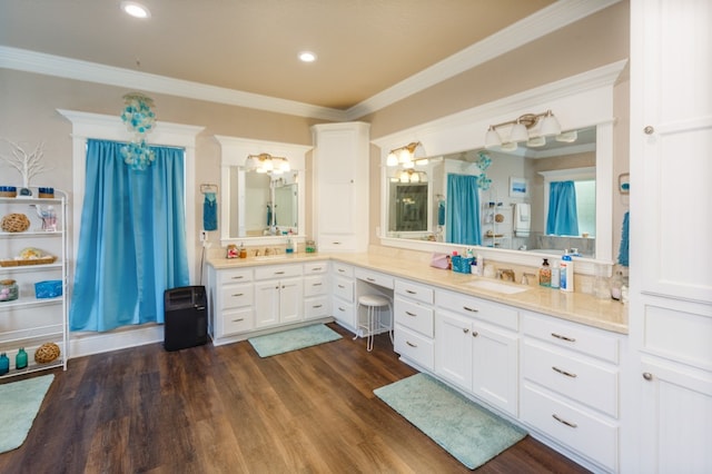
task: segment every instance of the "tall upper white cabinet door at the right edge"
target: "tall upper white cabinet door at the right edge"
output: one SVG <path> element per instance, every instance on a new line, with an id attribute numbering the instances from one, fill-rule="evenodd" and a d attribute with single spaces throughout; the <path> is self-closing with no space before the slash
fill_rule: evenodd
<path id="1" fill-rule="evenodd" d="M 631 282 L 711 302 L 712 2 L 634 0 L 631 12 Z"/>

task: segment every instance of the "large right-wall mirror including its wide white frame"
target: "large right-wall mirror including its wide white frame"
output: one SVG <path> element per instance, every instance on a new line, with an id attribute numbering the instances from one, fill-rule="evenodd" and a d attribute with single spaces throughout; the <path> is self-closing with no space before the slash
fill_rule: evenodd
<path id="1" fill-rule="evenodd" d="M 380 244 L 432 251 L 477 246 L 486 256 L 522 264 L 576 248 L 583 260 L 612 263 L 613 87 L 624 66 L 620 61 L 375 139 L 382 152 Z M 521 142 L 515 151 L 484 148 L 492 124 L 547 109 L 564 130 L 560 140 L 547 137 L 538 147 Z M 414 141 L 423 144 L 427 159 L 406 170 L 387 166 L 390 150 Z M 488 182 L 478 186 L 477 178 Z M 552 185 L 558 182 L 565 185 Z M 550 218 L 552 199 L 571 189 L 575 225 L 555 214 Z"/>

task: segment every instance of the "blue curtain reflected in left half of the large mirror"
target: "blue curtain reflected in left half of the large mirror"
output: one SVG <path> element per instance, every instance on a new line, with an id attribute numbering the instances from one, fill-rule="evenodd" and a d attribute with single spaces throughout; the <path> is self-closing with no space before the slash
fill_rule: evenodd
<path id="1" fill-rule="evenodd" d="M 452 244 L 479 245 L 479 190 L 477 177 L 447 175 L 445 213 L 446 240 Z"/>

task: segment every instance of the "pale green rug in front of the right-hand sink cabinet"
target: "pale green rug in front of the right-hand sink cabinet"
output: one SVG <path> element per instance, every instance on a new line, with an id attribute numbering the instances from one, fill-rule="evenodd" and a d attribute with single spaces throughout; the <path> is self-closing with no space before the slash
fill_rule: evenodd
<path id="1" fill-rule="evenodd" d="M 517 426 L 425 374 L 374 393 L 471 470 L 526 436 Z"/>

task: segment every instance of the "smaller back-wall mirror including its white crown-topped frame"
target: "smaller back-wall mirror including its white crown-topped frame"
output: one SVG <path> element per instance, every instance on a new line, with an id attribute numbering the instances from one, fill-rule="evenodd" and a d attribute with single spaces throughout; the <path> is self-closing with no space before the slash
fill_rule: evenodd
<path id="1" fill-rule="evenodd" d="M 291 233 L 305 237 L 305 155 L 308 146 L 216 136 L 221 147 L 220 240 L 269 245 Z M 250 169 L 247 158 L 259 154 L 286 157 L 280 174 Z"/>

